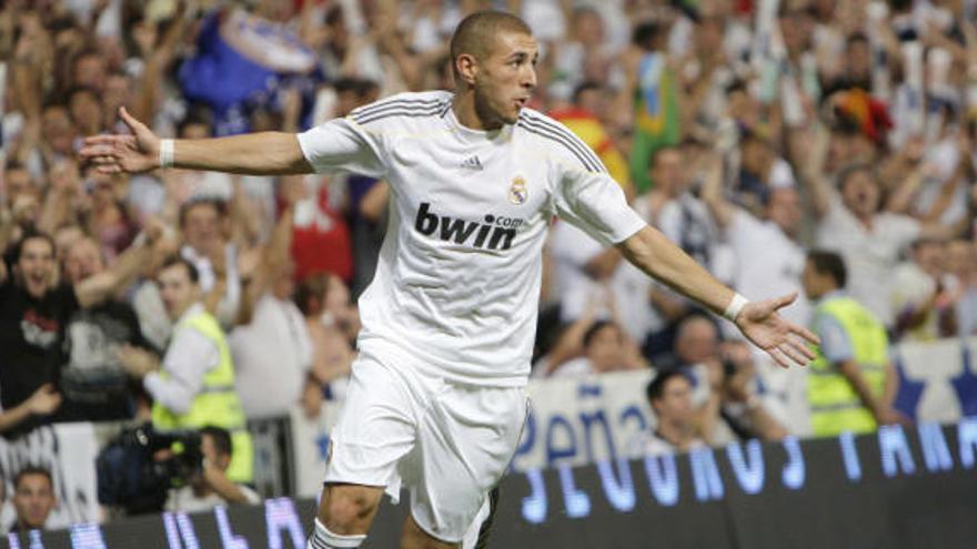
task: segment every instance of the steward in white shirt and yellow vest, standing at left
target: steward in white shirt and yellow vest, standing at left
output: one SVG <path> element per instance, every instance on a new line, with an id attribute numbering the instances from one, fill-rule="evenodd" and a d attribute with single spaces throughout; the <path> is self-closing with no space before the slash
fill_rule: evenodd
<path id="1" fill-rule="evenodd" d="M 155 428 L 200 429 L 212 425 L 228 429 L 233 446 L 228 478 L 249 482 L 253 448 L 234 390 L 234 365 L 224 333 L 200 303 L 198 278 L 197 268 L 182 257 L 168 260 L 157 277 L 167 314 L 174 323 L 162 365 L 135 347 L 121 349 L 119 358 L 153 397 Z"/>

